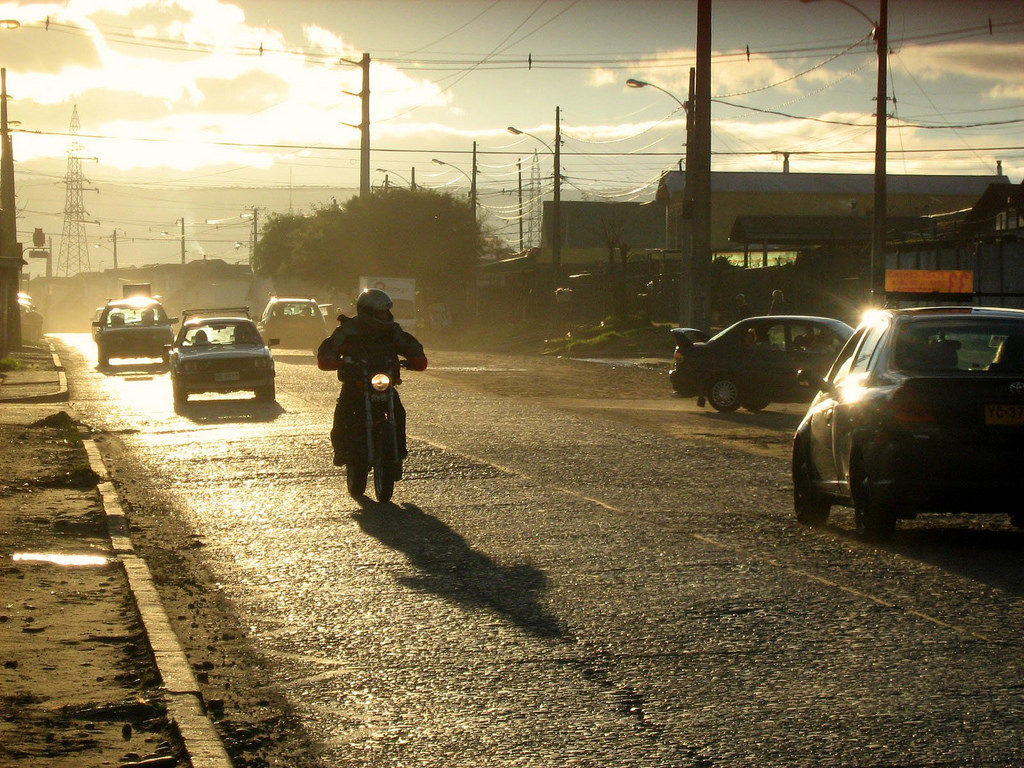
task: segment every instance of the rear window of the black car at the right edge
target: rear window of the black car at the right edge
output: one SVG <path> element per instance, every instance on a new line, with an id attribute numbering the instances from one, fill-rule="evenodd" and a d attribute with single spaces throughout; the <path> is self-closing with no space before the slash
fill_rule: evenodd
<path id="1" fill-rule="evenodd" d="M 903 325 L 893 362 L 904 371 L 1024 373 L 1024 319 L 936 317 Z"/>

